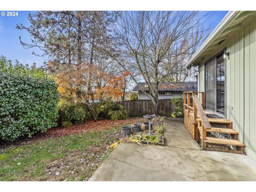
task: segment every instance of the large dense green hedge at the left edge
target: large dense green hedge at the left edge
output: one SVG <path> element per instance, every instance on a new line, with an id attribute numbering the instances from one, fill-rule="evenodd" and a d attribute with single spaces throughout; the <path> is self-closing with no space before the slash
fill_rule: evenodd
<path id="1" fill-rule="evenodd" d="M 35 66 L 0 57 L 0 138 L 31 137 L 56 125 L 59 94 L 54 79 Z"/>

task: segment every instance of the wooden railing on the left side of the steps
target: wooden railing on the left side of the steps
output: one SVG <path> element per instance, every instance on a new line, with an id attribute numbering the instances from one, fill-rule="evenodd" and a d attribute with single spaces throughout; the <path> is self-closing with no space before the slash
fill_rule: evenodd
<path id="1" fill-rule="evenodd" d="M 198 99 L 198 93 L 201 94 L 201 101 L 199 101 Z M 192 97 L 190 97 L 190 95 Z M 191 102 L 192 100 L 192 102 Z M 193 134 L 193 138 L 196 141 L 199 141 L 198 138 L 198 134 L 197 134 L 197 130 L 199 131 L 199 133 L 201 134 L 201 143 L 202 143 L 202 147 L 206 147 L 206 143 L 204 142 L 204 140 L 206 140 L 206 129 L 211 129 L 211 124 L 208 121 L 205 111 L 204 111 L 204 92 L 183 92 L 183 109 L 184 111 L 187 110 L 188 113 L 187 115 L 189 116 L 190 113 L 193 113 L 194 116 L 194 134 Z M 201 121 L 197 122 L 197 116 L 200 116 Z M 189 118 L 189 117 L 188 117 Z"/>

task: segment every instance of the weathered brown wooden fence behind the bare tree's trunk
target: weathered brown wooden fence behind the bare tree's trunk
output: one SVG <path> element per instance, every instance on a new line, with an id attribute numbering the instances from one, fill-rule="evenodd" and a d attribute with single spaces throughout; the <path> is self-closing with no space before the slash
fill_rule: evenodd
<path id="1" fill-rule="evenodd" d="M 154 105 L 150 100 L 119 101 L 117 103 L 124 106 L 131 117 L 141 117 L 147 114 L 154 114 Z M 183 109 L 183 103 L 181 103 L 181 105 L 174 105 L 171 99 L 158 100 L 159 115 L 171 117 L 176 106 Z"/>

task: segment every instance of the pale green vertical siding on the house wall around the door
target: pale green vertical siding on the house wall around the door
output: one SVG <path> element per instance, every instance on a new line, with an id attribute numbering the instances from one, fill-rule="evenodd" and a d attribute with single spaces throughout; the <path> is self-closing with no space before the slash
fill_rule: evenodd
<path id="1" fill-rule="evenodd" d="M 256 153 L 256 20 L 223 42 L 199 64 L 199 91 L 204 91 L 204 64 L 226 49 L 226 118 L 239 140 Z M 232 110 L 233 109 L 233 110 Z"/>

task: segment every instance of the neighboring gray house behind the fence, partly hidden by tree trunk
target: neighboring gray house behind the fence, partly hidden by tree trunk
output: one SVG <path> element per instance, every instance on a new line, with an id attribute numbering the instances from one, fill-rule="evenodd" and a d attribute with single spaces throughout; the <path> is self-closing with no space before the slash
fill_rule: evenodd
<path id="1" fill-rule="evenodd" d="M 133 91 L 138 91 L 139 100 L 149 100 L 148 95 L 142 91 L 148 92 L 146 83 L 138 83 Z M 183 91 L 197 91 L 197 82 L 164 82 L 159 86 L 158 99 L 172 99 L 183 97 Z"/>

